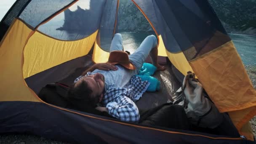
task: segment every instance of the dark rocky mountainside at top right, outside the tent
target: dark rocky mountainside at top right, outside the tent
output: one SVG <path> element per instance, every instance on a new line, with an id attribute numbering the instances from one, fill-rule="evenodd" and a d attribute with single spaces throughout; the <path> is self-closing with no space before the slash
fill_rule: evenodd
<path id="1" fill-rule="evenodd" d="M 256 0 L 208 0 L 228 33 L 256 35 Z"/>

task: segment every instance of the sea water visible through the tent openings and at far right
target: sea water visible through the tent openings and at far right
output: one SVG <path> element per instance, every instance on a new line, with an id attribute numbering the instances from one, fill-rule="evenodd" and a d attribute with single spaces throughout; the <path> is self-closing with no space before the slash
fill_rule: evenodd
<path id="1" fill-rule="evenodd" d="M 62 37 L 74 37 L 75 34 L 68 33 L 65 31 L 59 31 L 56 30 L 59 25 L 55 26 L 54 24 L 51 27 L 40 27 L 40 31 L 46 34 L 50 34 L 52 37 L 59 38 L 59 36 Z M 148 35 L 155 35 L 155 32 L 125 32 L 120 31 L 119 32 L 123 37 L 123 46 L 125 51 L 129 51 L 130 53 L 133 53 L 141 44 L 141 42 L 148 36 Z M 254 65 L 256 66 L 256 36 L 250 36 L 250 35 L 237 35 L 237 34 L 229 34 L 231 37 L 233 43 L 235 44 L 235 47 L 237 49 L 237 52 L 239 53 L 243 63 L 245 65 Z M 84 35 L 76 34 L 75 37 L 83 38 Z M 111 40 L 109 44 L 107 43 L 107 47 L 109 47 L 111 43 Z M 101 42 L 101 46 L 104 47 L 104 42 Z M 105 48 L 106 50 L 109 48 Z"/>

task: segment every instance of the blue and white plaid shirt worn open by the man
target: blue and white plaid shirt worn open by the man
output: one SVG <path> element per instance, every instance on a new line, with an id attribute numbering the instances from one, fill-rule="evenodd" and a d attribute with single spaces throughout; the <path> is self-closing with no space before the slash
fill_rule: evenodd
<path id="1" fill-rule="evenodd" d="M 91 72 L 87 75 L 91 75 Z M 77 77 L 75 83 L 83 77 Z M 149 84 L 148 81 L 141 81 L 140 77 L 134 75 L 123 88 L 110 86 L 105 91 L 102 101 L 109 110 L 109 115 L 123 121 L 139 122 L 139 109 L 134 102 L 139 100 Z"/>

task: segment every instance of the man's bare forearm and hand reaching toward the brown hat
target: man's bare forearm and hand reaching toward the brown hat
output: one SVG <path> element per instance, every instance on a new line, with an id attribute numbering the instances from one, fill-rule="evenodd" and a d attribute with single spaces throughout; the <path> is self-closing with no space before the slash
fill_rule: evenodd
<path id="1" fill-rule="evenodd" d="M 97 64 L 93 64 L 93 66 L 91 66 L 90 68 L 86 69 L 82 73 L 82 75 L 86 75 L 87 72 L 92 72 L 95 69 L 109 71 L 109 70 L 117 70 L 117 67 L 112 65 L 112 64 L 109 64 L 109 63 L 97 63 Z"/>

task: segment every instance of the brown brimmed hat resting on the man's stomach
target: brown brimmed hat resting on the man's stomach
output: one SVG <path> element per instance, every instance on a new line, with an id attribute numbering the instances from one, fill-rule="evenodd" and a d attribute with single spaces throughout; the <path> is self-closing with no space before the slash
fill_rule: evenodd
<path id="1" fill-rule="evenodd" d="M 109 54 L 109 64 L 121 64 L 123 67 L 127 69 L 136 69 L 136 67 L 129 61 L 128 53 L 124 51 L 112 51 Z"/>

